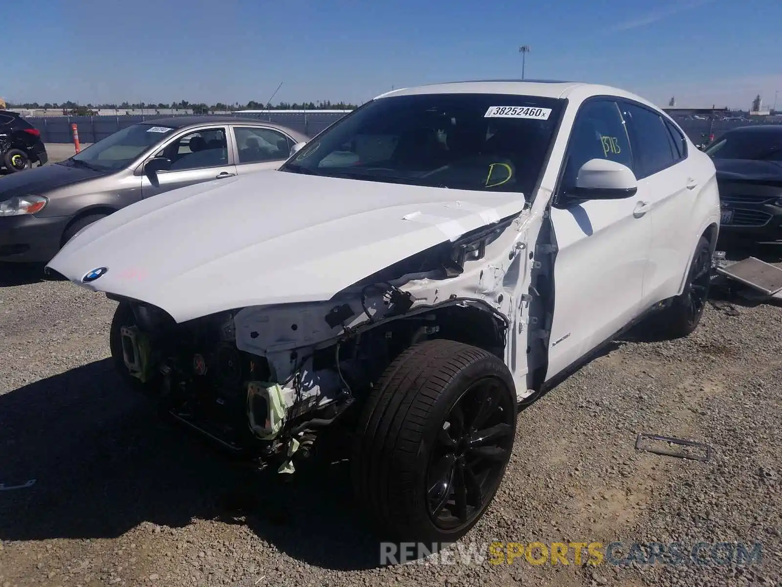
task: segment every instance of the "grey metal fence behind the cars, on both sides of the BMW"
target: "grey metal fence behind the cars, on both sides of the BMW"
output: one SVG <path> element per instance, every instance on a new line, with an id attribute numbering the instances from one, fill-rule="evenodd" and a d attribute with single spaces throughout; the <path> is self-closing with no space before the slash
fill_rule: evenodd
<path id="1" fill-rule="evenodd" d="M 267 113 L 261 114 L 248 114 L 237 113 L 236 117 L 251 117 L 260 119 L 263 121 L 276 122 L 278 124 L 284 124 L 293 130 L 303 132 L 305 135 L 314 136 L 324 128 L 338 121 L 343 117 L 343 113 L 331 113 L 331 112 L 309 112 L 309 113 L 292 113 L 292 112 L 280 112 L 275 113 L 274 110 L 270 110 Z M 149 114 L 145 116 L 58 116 L 58 117 L 29 117 L 27 121 L 34 124 L 39 131 L 41 131 L 41 138 L 44 142 L 72 142 L 70 134 L 70 125 L 76 123 L 79 129 L 79 140 L 81 142 L 98 142 L 101 139 L 106 139 L 107 136 L 119 131 L 121 128 L 126 128 L 131 124 L 136 124 L 143 121 L 153 121 L 160 118 L 170 118 L 169 116 Z M 723 132 L 730 128 L 736 128 L 739 126 L 746 126 L 748 124 L 780 124 L 779 121 L 769 123 L 766 121 L 698 121 L 698 120 L 685 120 L 676 119 L 683 129 L 687 133 L 687 136 L 696 143 L 705 142 L 708 140 L 709 135 L 719 136 Z"/>

